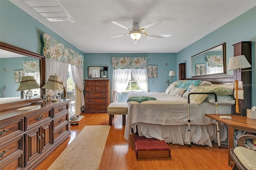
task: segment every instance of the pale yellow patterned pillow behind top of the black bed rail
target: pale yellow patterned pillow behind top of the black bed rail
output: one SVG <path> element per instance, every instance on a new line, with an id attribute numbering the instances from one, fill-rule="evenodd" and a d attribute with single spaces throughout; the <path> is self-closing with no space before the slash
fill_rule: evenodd
<path id="1" fill-rule="evenodd" d="M 196 86 L 194 89 L 191 90 L 190 93 L 210 93 L 212 89 L 203 88 L 204 86 Z M 200 105 L 205 99 L 208 97 L 207 94 L 200 94 L 200 95 L 190 95 L 190 99 L 195 101 L 198 105 Z"/>

